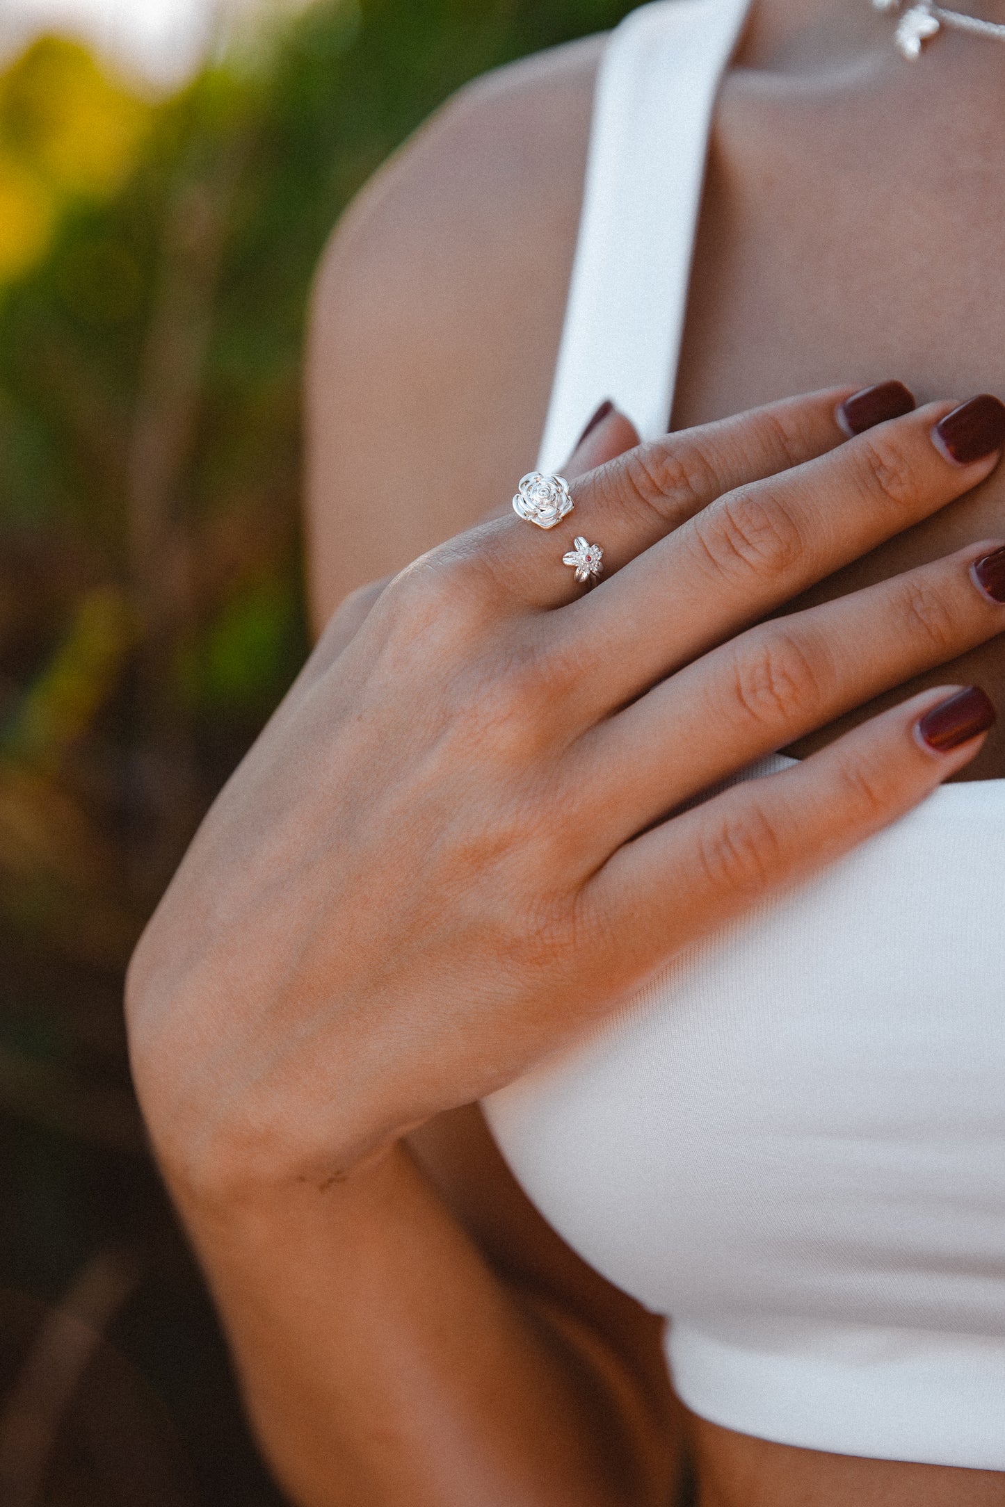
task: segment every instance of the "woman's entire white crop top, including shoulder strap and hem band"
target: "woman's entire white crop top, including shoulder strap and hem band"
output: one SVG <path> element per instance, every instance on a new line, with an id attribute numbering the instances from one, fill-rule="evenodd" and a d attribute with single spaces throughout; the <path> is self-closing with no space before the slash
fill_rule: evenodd
<path id="1" fill-rule="evenodd" d="M 544 470 L 606 396 L 666 429 L 744 12 L 661 0 L 607 47 Z M 669 1316 L 699 1415 L 1005 1471 L 1003 942 L 1005 781 L 946 785 L 485 1100 L 553 1227 Z"/>

